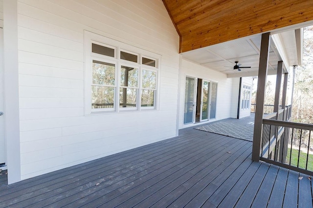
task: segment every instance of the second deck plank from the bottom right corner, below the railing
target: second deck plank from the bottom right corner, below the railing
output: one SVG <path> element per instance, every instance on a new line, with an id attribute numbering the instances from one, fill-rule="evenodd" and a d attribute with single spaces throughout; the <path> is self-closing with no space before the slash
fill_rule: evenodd
<path id="1" fill-rule="evenodd" d="M 298 172 L 293 170 L 288 171 L 287 185 L 283 202 L 284 208 L 298 206 L 298 177 Z"/>

